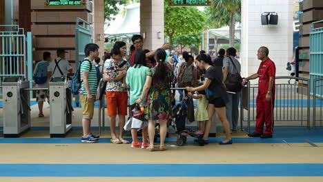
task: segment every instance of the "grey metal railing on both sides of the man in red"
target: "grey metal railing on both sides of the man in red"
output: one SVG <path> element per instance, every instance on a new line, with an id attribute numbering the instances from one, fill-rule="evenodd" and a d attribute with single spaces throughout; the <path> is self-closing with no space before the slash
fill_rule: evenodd
<path id="1" fill-rule="evenodd" d="M 311 83 L 300 77 L 275 78 L 275 103 L 273 117 L 275 125 L 301 125 L 310 129 L 311 125 Z M 256 99 L 258 84 L 247 83 L 242 89 L 240 105 L 241 128 L 243 122 L 256 121 Z"/>

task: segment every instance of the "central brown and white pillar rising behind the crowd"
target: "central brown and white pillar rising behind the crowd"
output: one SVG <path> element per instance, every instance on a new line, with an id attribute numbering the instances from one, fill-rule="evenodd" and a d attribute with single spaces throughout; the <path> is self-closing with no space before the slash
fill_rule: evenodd
<path id="1" fill-rule="evenodd" d="M 164 0 L 140 1 L 140 34 L 146 34 L 144 49 L 156 50 L 164 44 Z"/>

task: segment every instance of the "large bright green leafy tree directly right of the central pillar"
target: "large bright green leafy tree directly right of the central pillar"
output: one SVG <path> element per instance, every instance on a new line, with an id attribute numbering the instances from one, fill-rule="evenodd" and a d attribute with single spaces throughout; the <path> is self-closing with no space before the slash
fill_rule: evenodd
<path id="1" fill-rule="evenodd" d="M 178 35 L 197 34 L 204 28 L 205 14 L 195 7 L 169 7 L 164 0 L 164 14 L 164 30 L 171 45 Z"/>

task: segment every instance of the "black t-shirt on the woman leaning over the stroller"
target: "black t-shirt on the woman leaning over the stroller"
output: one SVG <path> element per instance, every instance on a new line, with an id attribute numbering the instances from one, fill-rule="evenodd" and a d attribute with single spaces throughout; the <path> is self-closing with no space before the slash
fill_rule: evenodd
<path id="1" fill-rule="evenodd" d="M 212 92 L 210 95 L 210 100 L 222 97 L 225 102 L 228 101 L 226 90 L 224 89 L 224 85 L 221 79 L 222 72 L 211 66 L 210 68 L 208 68 L 208 70 L 206 70 L 205 77 L 211 79 L 211 84 L 208 86 L 208 90 Z"/>

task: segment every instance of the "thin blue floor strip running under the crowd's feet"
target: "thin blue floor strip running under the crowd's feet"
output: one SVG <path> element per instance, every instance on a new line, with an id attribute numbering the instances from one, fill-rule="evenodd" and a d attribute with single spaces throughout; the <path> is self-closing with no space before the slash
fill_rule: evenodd
<path id="1" fill-rule="evenodd" d="M 49 136 L 49 134 L 48 134 Z M 132 139 L 128 139 L 130 142 Z M 223 141 L 224 138 L 217 137 L 217 138 L 209 138 L 209 143 L 219 143 L 220 141 Z M 323 143 L 323 138 L 273 138 L 273 139 L 260 139 L 260 138 L 233 138 L 233 143 L 306 143 L 307 141 L 311 141 L 313 143 Z M 176 138 L 167 138 L 165 140 L 166 143 L 173 143 L 175 144 L 177 141 Z M 158 143 L 159 141 L 157 141 Z M 0 138 L 0 143 L 81 143 L 80 138 Z M 110 138 L 101 138 L 99 139 L 98 143 L 111 143 Z M 188 138 L 187 139 L 188 145 L 194 145 L 194 139 Z M 96 143 L 84 143 L 86 144 L 96 144 Z M 197 145 L 197 144 L 195 144 Z"/>

